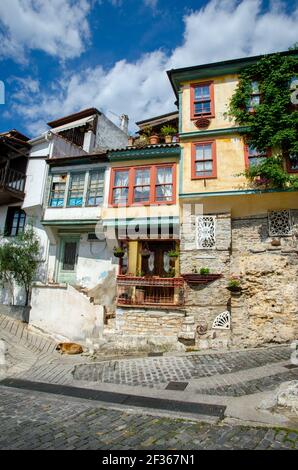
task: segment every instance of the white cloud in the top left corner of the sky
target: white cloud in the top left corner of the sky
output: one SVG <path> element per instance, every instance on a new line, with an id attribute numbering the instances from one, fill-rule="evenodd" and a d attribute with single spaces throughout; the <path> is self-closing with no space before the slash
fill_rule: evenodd
<path id="1" fill-rule="evenodd" d="M 89 10 L 88 0 L 1 1 L 0 58 L 24 62 L 33 49 L 60 59 L 79 56 L 90 35 Z"/>

